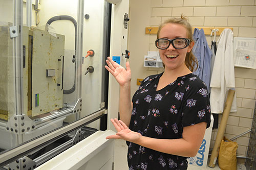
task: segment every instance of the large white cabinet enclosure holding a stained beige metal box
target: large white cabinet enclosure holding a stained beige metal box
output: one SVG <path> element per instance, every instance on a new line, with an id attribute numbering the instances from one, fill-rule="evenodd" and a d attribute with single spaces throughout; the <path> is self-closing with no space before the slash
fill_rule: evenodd
<path id="1" fill-rule="evenodd" d="M 129 0 L 0 1 L 1 169 L 112 168 L 105 137 L 119 91 L 104 65 L 125 65 L 128 9 Z"/>

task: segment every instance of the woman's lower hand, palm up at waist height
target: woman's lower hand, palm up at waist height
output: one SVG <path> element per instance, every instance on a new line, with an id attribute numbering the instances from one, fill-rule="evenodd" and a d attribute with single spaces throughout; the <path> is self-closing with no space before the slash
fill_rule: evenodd
<path id="1" fill-rule="evenodd" d="M 131 129 L 129 129 L 122 120 L 118 120 L 117 118 L 111 119 L 112 124 L 117 130 L 117 133 L 115 135 L 107 136 L 106 139 L 123 139 L 130 142 L 137 142 L 142 135 L 138 132 L 134 132 Z"/>

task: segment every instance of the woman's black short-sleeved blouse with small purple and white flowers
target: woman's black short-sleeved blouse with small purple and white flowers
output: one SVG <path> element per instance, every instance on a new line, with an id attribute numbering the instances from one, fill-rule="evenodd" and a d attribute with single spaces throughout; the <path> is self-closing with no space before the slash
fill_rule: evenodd
<path id="1" fill-rule="evenodd" d="M 182 138 L 183 127 L 210 125 L 210 104 L 205 83 L 193 73 L 178 77 L 156 91 L 159 75 L 143 80 L 133 96 L 129 128 L 143 136 L 161 139 Z M 127 160 L 133 169 L 187 169 L 187 158 L 165 154 L 127 142 Z"/>

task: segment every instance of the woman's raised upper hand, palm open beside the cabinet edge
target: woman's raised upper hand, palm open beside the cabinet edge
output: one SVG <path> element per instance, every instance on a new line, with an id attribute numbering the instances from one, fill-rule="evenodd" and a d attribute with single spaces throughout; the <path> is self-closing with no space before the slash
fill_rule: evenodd
<path id="1" fill-rule="evenodd" d="M 108 66 L 105 65 L 105 68 L 114 76 L 116 81 L 119 83 L 120 86 L 124 86 L 127 83 L 131 82 L 132 73 L 130 64 L 126 62 L 126 69 L 123 68 L 121 65 L 113 61 L 110 57 L 106 60 Z"/>

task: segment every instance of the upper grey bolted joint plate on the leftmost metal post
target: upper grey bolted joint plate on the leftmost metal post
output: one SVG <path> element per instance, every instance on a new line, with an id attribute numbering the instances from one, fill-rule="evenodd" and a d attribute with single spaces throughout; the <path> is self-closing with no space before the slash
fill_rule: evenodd
<path id="1" fill-rule="evenodd" d="M 24 134 L 35 129 L 35 123 L 27 115 L 12 115 L 6 124 L 6 130 L 13 134 Z"/>

